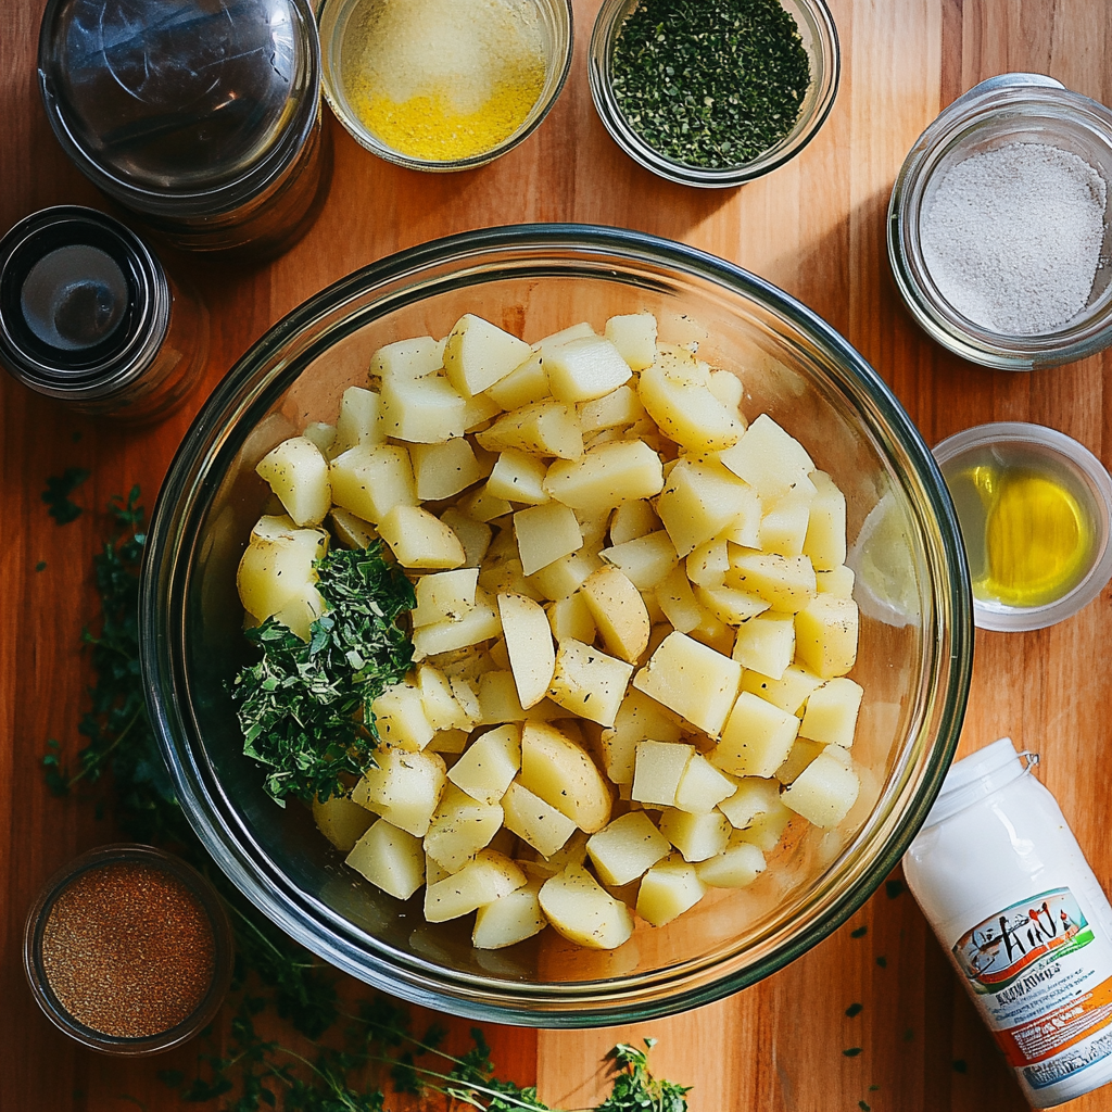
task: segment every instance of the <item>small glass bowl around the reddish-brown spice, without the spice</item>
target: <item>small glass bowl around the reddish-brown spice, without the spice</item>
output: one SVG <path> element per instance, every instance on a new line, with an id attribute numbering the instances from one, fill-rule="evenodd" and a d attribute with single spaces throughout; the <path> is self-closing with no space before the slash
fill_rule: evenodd
<path id="1" fill-rule="evenodd" d="M 86 873 L 108 865 L 127 863 L 145 865 L 179 881 L 196 897 L 212 929 L 212 980 L 200 1003 L 192 1014 L 186 1016 L 180 1023 L 166 1031 L 139 1039 L 105 1034 L 102 1031 L 86 1026 L 71 1015 L 50 987 L 42 960 L 43 932 L 58 897 Z M 106 845 L 90 850 L 71 861 L 43 885 L 38 898 L 28 912 L 23 930 L 23 972 L 27 974 L 34 1002 L 42 1009 L 47 1019 L 83 1046 L 122 1058 L 160 1054 L 162 1051 L 188 1042 L 207 1024 L 211 1023 L 227 995 L 228 985 L 231 982 L 234 957 L 231 929 L 228 925 L 228 917 L 220 897 L 212 885 L 180 857 L 175 857 L 172 854 L 149 845 L 126 843 Z"/>

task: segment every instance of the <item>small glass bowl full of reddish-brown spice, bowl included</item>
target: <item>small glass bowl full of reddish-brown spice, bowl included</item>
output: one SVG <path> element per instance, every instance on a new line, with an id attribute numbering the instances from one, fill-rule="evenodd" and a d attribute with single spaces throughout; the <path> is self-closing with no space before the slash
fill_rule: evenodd
<path id="1" fill-rule="evenodd" d="M 23 969 L 66 1034 L 108 1054 L 157 1054 L 208 1024 L 231 979 L 212 886 L 146 845 L 93 850 L 50 878 L 27 917 Z"/>

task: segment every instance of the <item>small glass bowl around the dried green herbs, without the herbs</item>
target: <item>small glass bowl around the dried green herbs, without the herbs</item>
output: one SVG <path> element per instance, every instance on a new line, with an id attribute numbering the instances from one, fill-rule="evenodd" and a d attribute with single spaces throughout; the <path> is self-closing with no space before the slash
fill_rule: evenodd
<path id="1" fill-rule="evenodd" d="M 837 95 L 841 73 L 837 30 L 824 0 L 782 0 L 784 10 L 795 20 L 803 49 L 811 59 L 811 87 L 807 89 L 795 127 L 776 146 L 751 162 L 711 170 L 688 162 L 677 162 L 649 147 L 626 121 L 614 96 L 610 62 L 623 23 L 633 14 L 639 0 L 604 0 L 590 36 L 588 78 L 595 110 L 610 138 L 646 170 L 681 186 L 702 189 L 727 189 L 743 186 L 783 166 L 817 135 Z"/>

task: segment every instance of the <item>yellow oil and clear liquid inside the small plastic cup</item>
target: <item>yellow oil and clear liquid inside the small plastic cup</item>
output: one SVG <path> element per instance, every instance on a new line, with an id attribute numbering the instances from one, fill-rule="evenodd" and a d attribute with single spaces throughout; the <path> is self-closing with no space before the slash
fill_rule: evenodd
<path id="1" fill-rule="evenodd" d="M 1092 565 L 1095 510 L 1085 486 L 1035 451 L 983 449 L 943 467 L 973 594 L 1012 607 L 1068 594 Z"/>

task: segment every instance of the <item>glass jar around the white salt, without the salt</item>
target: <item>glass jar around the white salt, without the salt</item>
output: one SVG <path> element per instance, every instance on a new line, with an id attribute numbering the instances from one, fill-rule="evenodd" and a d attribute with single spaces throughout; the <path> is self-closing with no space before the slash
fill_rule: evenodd
<path id="1" fill-rule="evenodd" d="M 1108 183 L 1112 208 L 1112 111 L 1041 73 L 1003 73 L 959 97 L 919 137 L 888 203 L 888 260 L 912 316 L 943 347 L 1000 370 L 1035 370 L 1083 359 L 1112 344 L 1112 226 L 1105 212 L 1089 302 L 1052 332 L 991 331 L 953 309 L 923 259 L 920 219 L 957 162 L 1015 142 L 1045 143 L 1084 159 Z"/>

